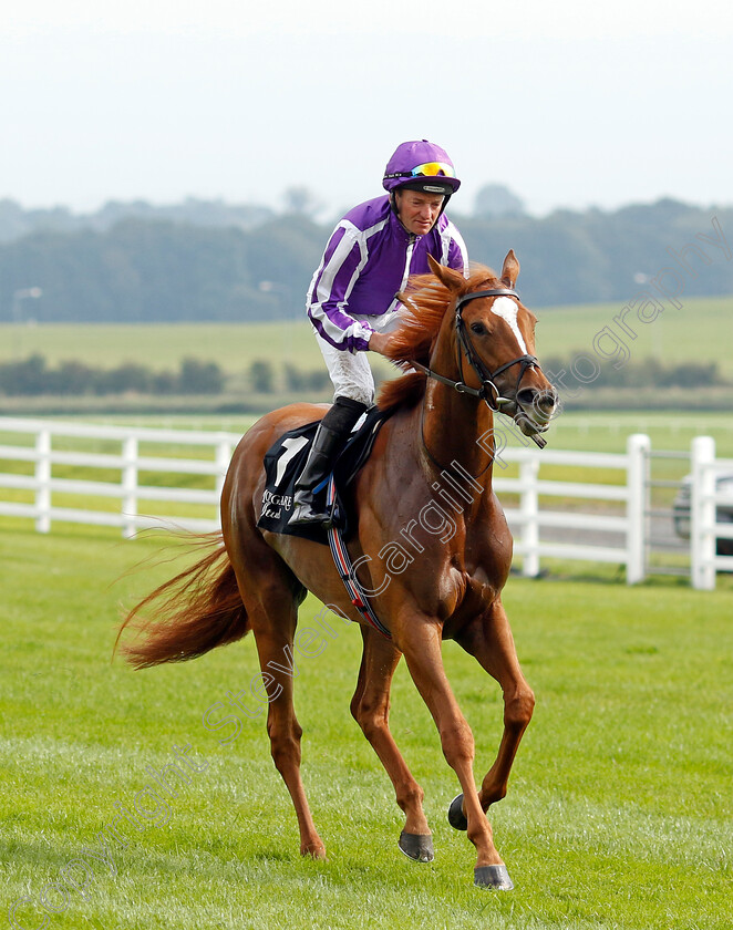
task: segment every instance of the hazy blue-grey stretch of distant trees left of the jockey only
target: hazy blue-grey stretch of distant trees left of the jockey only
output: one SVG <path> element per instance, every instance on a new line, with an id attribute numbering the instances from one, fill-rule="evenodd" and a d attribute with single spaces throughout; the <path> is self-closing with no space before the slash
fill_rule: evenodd
<path id="1" fill-rule="evenodd" d="M 0 246 L 0 321 L 293 319 L 319 257 L 312 237 L 299 217 L 256 234 L 142 219 L 34 232 Z M 31 287 L 42 296 L 19 307 L 13 294 Z"/>

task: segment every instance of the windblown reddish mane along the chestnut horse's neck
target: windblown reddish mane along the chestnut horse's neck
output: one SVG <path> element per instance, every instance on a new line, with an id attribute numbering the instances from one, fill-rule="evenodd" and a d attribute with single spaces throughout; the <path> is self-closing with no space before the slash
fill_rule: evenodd
<path id="1" fill-rule="evenodd" d="M 496 272 L 484 265 L 472 266 L 471 275 L 457 292 L 448 290 L 435 275 L 413 275 L 404 291 L 398 294 L 403 303 L 402 324 L 390 334 L 384 354 L 399 368 L 409 370 L 411 362 L 427 365 L 453 298 L 499 283 Z M 422 400 L 426 382 L 427 376 L 415 371 L 388 381 L 380 388 L 378 405 L 382 410 L 414 406 Z"/>

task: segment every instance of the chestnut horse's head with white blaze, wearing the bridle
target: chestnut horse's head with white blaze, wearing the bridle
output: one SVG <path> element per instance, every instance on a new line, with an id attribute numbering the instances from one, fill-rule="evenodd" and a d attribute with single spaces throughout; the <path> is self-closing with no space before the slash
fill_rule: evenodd
<path id="1" fill-rule="evenodd" d="M 557 392 L 535 355 L 537 318 L 515 291 L 519 262 L 513 250 L 502 275 L 479 285 L 431 259 L 433 273 L 453 294 L 446 326 L 453 330 L 458 378 L 494 410 L 515 420 L 525 435 L 547 430 Z M 458 390 L 461 390 L 458 388 Z"/>

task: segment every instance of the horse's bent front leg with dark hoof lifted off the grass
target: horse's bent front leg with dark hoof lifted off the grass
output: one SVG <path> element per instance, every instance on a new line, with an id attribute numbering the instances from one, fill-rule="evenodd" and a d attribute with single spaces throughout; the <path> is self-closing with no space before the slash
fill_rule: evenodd
<path id="1" fill-rule="evenodd" d="M 496 760 L 486 773 L 481 787 L 481 806 L 489 806 L 506 796 L 512 765 L 519 742 L 531 720 L 535 695 L 519 668 L 514 637 L 500 600 L 496 600 L 489 612 L 465 627 L 456 641 L 486 671 L 498 681 L 504 695 L 504 733 Z M 457 829 L 465 829 L 461 817 L 461 803 L 452 805 L 451 823 Z"/>

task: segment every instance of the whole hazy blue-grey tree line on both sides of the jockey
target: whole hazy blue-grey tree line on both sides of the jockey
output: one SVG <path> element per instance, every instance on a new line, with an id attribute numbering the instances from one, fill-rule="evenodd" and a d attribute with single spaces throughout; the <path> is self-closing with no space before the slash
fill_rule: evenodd
<path id="1" fill-rule="evenodd" d="M 195 209 L 195 203 L 167 213 L 109 205 L 105 221 L 95 215 L 86 225 L 37 217 L 27 224 L 30 231 L 4 241 L 0 236 L 0 322 L 301 319 L 332 226 L 298 213 L 306 208 L 304 195 L 297 194 L 290 197 L 293 213 L 265 211 L 250 216 L 251 223 L 237 220 L 225 205 Z M 6 228 L 22 232 L 24 214 L 12 202 L 0 202 L 0 228 L 3 205 Z M 732 208 L 665 199 L 610 213 L 557 210 L 538 219 L 510 207 L 453 218 L 473 260 L 500 266 L 515 249 L 519 290 L 530 307 L 628 301 L 670 267 L 684 294 L 733 293 L 731 247 L 725 238 L 715 245 L 711 225 L 717 217 L 733 244 Z M 688 246 L 704 249 L 708 260 L 690 250 L 678 260 L 674 254 Z M 673 287 L 671 278 L 664 283 Z M 30 288 L 42 296 L 19 300 Z"/>

